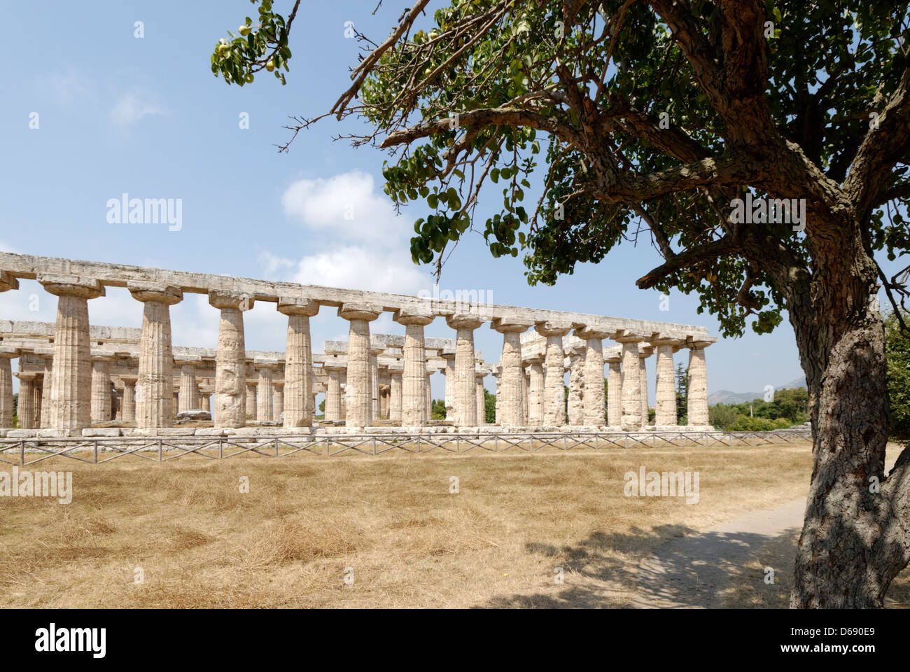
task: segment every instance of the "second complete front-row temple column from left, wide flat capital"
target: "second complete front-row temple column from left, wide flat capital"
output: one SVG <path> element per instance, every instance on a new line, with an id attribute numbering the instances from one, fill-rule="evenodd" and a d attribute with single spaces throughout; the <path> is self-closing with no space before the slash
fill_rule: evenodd
<path id="1" fill-rule="evenodd" d="M 126 287 L 134 299 L 143 303 L 136 380 L 136 427 L 173 427 L 174 355 L 170 306 L 183 300 L 183 291 L 153 282 L 129 282 Z"/>

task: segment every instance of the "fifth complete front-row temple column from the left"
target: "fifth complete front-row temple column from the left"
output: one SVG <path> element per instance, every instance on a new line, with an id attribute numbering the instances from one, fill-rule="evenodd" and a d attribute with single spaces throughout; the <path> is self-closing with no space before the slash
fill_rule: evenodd
<path id="1" fill-rule="evenodd" d="M 372 399 L 369 387 L 369 323 L 382 312 L 379 306 L 364 303 L 345 303 L 339 317 L 349 321 L 348 337 L 348 404 L 345 424 L 348 427 L 367 427 L 372 424 Z"/>

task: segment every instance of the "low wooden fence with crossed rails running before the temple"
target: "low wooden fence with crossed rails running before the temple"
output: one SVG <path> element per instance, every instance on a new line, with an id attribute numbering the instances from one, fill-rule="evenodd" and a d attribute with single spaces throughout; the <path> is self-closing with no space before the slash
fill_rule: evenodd
<path id="1" fill-rule="evenodd" d="M 551 447 L 574 449 L 656 448 L 693 446 L 759 446 L 796 443 L 812 439 L 808 428 L 771 432 L 640 432 L 640 433 L 375 433 L 302 434 L 276 436 L 149 436 L 0 439 L 0 463 L 25 466 L 66 457 L 101 464 L 133 456 L 151 462 L 167 462 L 185 455 L 225 460 L 246 453 L 287 457 L 297 453 L 335 456 L 405 451 L 408 453 L 468 453 L 472 450 L 503 453 L 518 450 L 533 453 Z"/>

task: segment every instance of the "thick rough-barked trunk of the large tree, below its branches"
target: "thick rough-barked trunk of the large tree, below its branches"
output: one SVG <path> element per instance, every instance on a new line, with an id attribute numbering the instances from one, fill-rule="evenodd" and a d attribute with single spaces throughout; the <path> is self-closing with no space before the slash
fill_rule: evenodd
<path id="1" fill-rule="evenodd" d="M 842 253 L 844 250 L 842 249 Z M 844 255 L 849 258 L 849 254 Z M 790 319 L 810 395 L 814 465 L 796 555 L 796 608 L 880 607 L 910 556 L 906 462 L 885 482 L 885 329 L 862 249 L 816 266 Z M 809 305 L 811 303 L 811 311 Z"/>

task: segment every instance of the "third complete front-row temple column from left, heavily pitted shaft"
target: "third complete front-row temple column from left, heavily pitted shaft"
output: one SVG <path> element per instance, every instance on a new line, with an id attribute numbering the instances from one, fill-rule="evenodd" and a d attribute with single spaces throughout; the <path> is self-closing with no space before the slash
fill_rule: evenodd
<path id="1" fill-rule="evenodd" d="M 208 292 L 208 303 L 221 311 L 218 349 L 215 355 L 216 427 L 243 427 L 247 423 L 247 349 L 243 311 L 253 307 L 253 298 L 238 292 Z"/>

